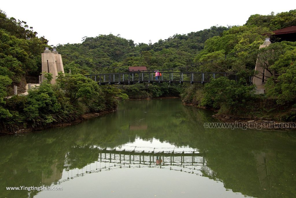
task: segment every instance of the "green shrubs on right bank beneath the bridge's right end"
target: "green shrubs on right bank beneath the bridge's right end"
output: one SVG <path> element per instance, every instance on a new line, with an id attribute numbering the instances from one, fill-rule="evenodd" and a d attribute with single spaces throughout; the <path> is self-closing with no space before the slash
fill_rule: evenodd
<path id="1" fill-rule="evenodd" d="M 257 97 L 255 86 L 246 86 L 243 79 L 240 82 L 229 80 L 227 77 L 211 79 L 211 82 L 194 85 L 181 94 L 185 103 L 214 109 L 228 109 L 227 113 L 252 111 L 252 105 Z"/>

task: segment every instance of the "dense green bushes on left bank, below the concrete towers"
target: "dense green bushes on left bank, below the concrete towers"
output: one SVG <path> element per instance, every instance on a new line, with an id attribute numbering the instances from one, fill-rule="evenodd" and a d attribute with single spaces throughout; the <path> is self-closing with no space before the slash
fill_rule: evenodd
<path id="1" fill-rule="evenodd" d="M 43 129 L 63 123 L 75 122 L 87 113 L 113 111 L 120 90 L 100 86 L 81 74 L 59 74 L 52 85 L 52 76 L 29 90 L 27 96 L 15 95 L 6 99 L 1 114 L 0 130 L 14 132 L 18 129 Z"/>

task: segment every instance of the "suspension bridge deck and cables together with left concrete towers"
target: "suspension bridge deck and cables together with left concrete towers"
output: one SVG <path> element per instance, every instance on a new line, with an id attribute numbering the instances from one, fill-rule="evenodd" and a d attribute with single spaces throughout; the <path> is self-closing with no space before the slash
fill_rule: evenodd
<path id="1" fill-rule="evenodd" d="M 63 52 L 57 52 L 56 48 L 53 48 L 53 51 L 51 52 L 48 47 L 44 50 L 44 53 L 41 54 L 42 59 L 42 72 L 48 72 L 52 73 L 54 78 L 52 79 L 51 83 L 55 84 L 55 79 L 58 74 L 58 72 L 64 73 L 64 67 L 62 64 L 62 57 L 61 55 L 67 56 L 68 58 L 78 60 L 80 62 L 86 63 L 87 65 L 93 65 L 99 68 L 107 68 L 107 69 L 114 69 L 115 71 L 124 71 L 122 73 L 109 73 L 109 74 L 91 74 L 91 75 L 85 75 L 87 78 L 91 78 L 94 81 L 98 82 L 99 85 L 105 85 L 105 84 L 135 84 L 135 83 L 207 83 L 210 82 L 210 79 L 218 78 L 221 76 L 228 77 L 228 79 L 237 81 L 237 75 L 236 74 L 230 74 L 227 72 L 178 72 L 183 71 L 184 69 L 190 69 L 190 68 L 197 68 L 199 66 L 205 65 L 205 64 L 213 64 L 217 61 L 226 61 L 227 58 L 238 55 L 240 52 L 244 52 L 250 49 L 253 49 L 255 47 L 258 47 L 258 44 L 260 44 L 263 41 L 254 42 L 250 46 L 246 48 L 239 49 L 235 52 L 231 52 L 227 55 L 217 57 L 211 60 L 207 60 L 204 62 L 191 64 L 187 66 L 179 66 L 175 68 L 167 68 L 167 69 L 161 69 L 159 70 L 162 75 L 156 78 L 154 71 L 129 71 L 127 68 L 118 68 L 118 67 L 112 67 L 112 66 L 106 66 L 99 63 L 90 62 L 81 58 L 78 58 L 76 56 L 66 54 Z M 176 71 L 177 70 L 177 71 Z M 42 82 L 42 78 L 44 76 L 39 76 L 39 84 Z M 251 76 L 248 80 L 249 84 L 251 84 Z"/>

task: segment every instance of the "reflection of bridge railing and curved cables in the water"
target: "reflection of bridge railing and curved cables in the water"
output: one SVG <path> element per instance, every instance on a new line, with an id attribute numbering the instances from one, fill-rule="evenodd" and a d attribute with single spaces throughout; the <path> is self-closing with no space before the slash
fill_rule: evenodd
<path id="1" fill-rule="evenodd" d="M 158 160 L 158 163 L 157 161 Z M 202 175 L 202 167 L 206 165 L 206 160 L 202 153 L 190 152 L 154 152 L 154 151 L 126 151 L 124 150 L 107 150 L 99 149 L 98 160 L 82 169 L 69 169 L 71 162 L 65 161 L 67 178 L 59 180 L 58 183 L 68 181 L 70 179 L 84 176 L 89 173 L 98 173 L 105 170 L 116 170 L 123 168 L 161 168 L 176 170 L 184 173 Z M 77 171 L 77 172 L 76 172 Z M 195 173 L 194 173 L 195 172 Z"/>

